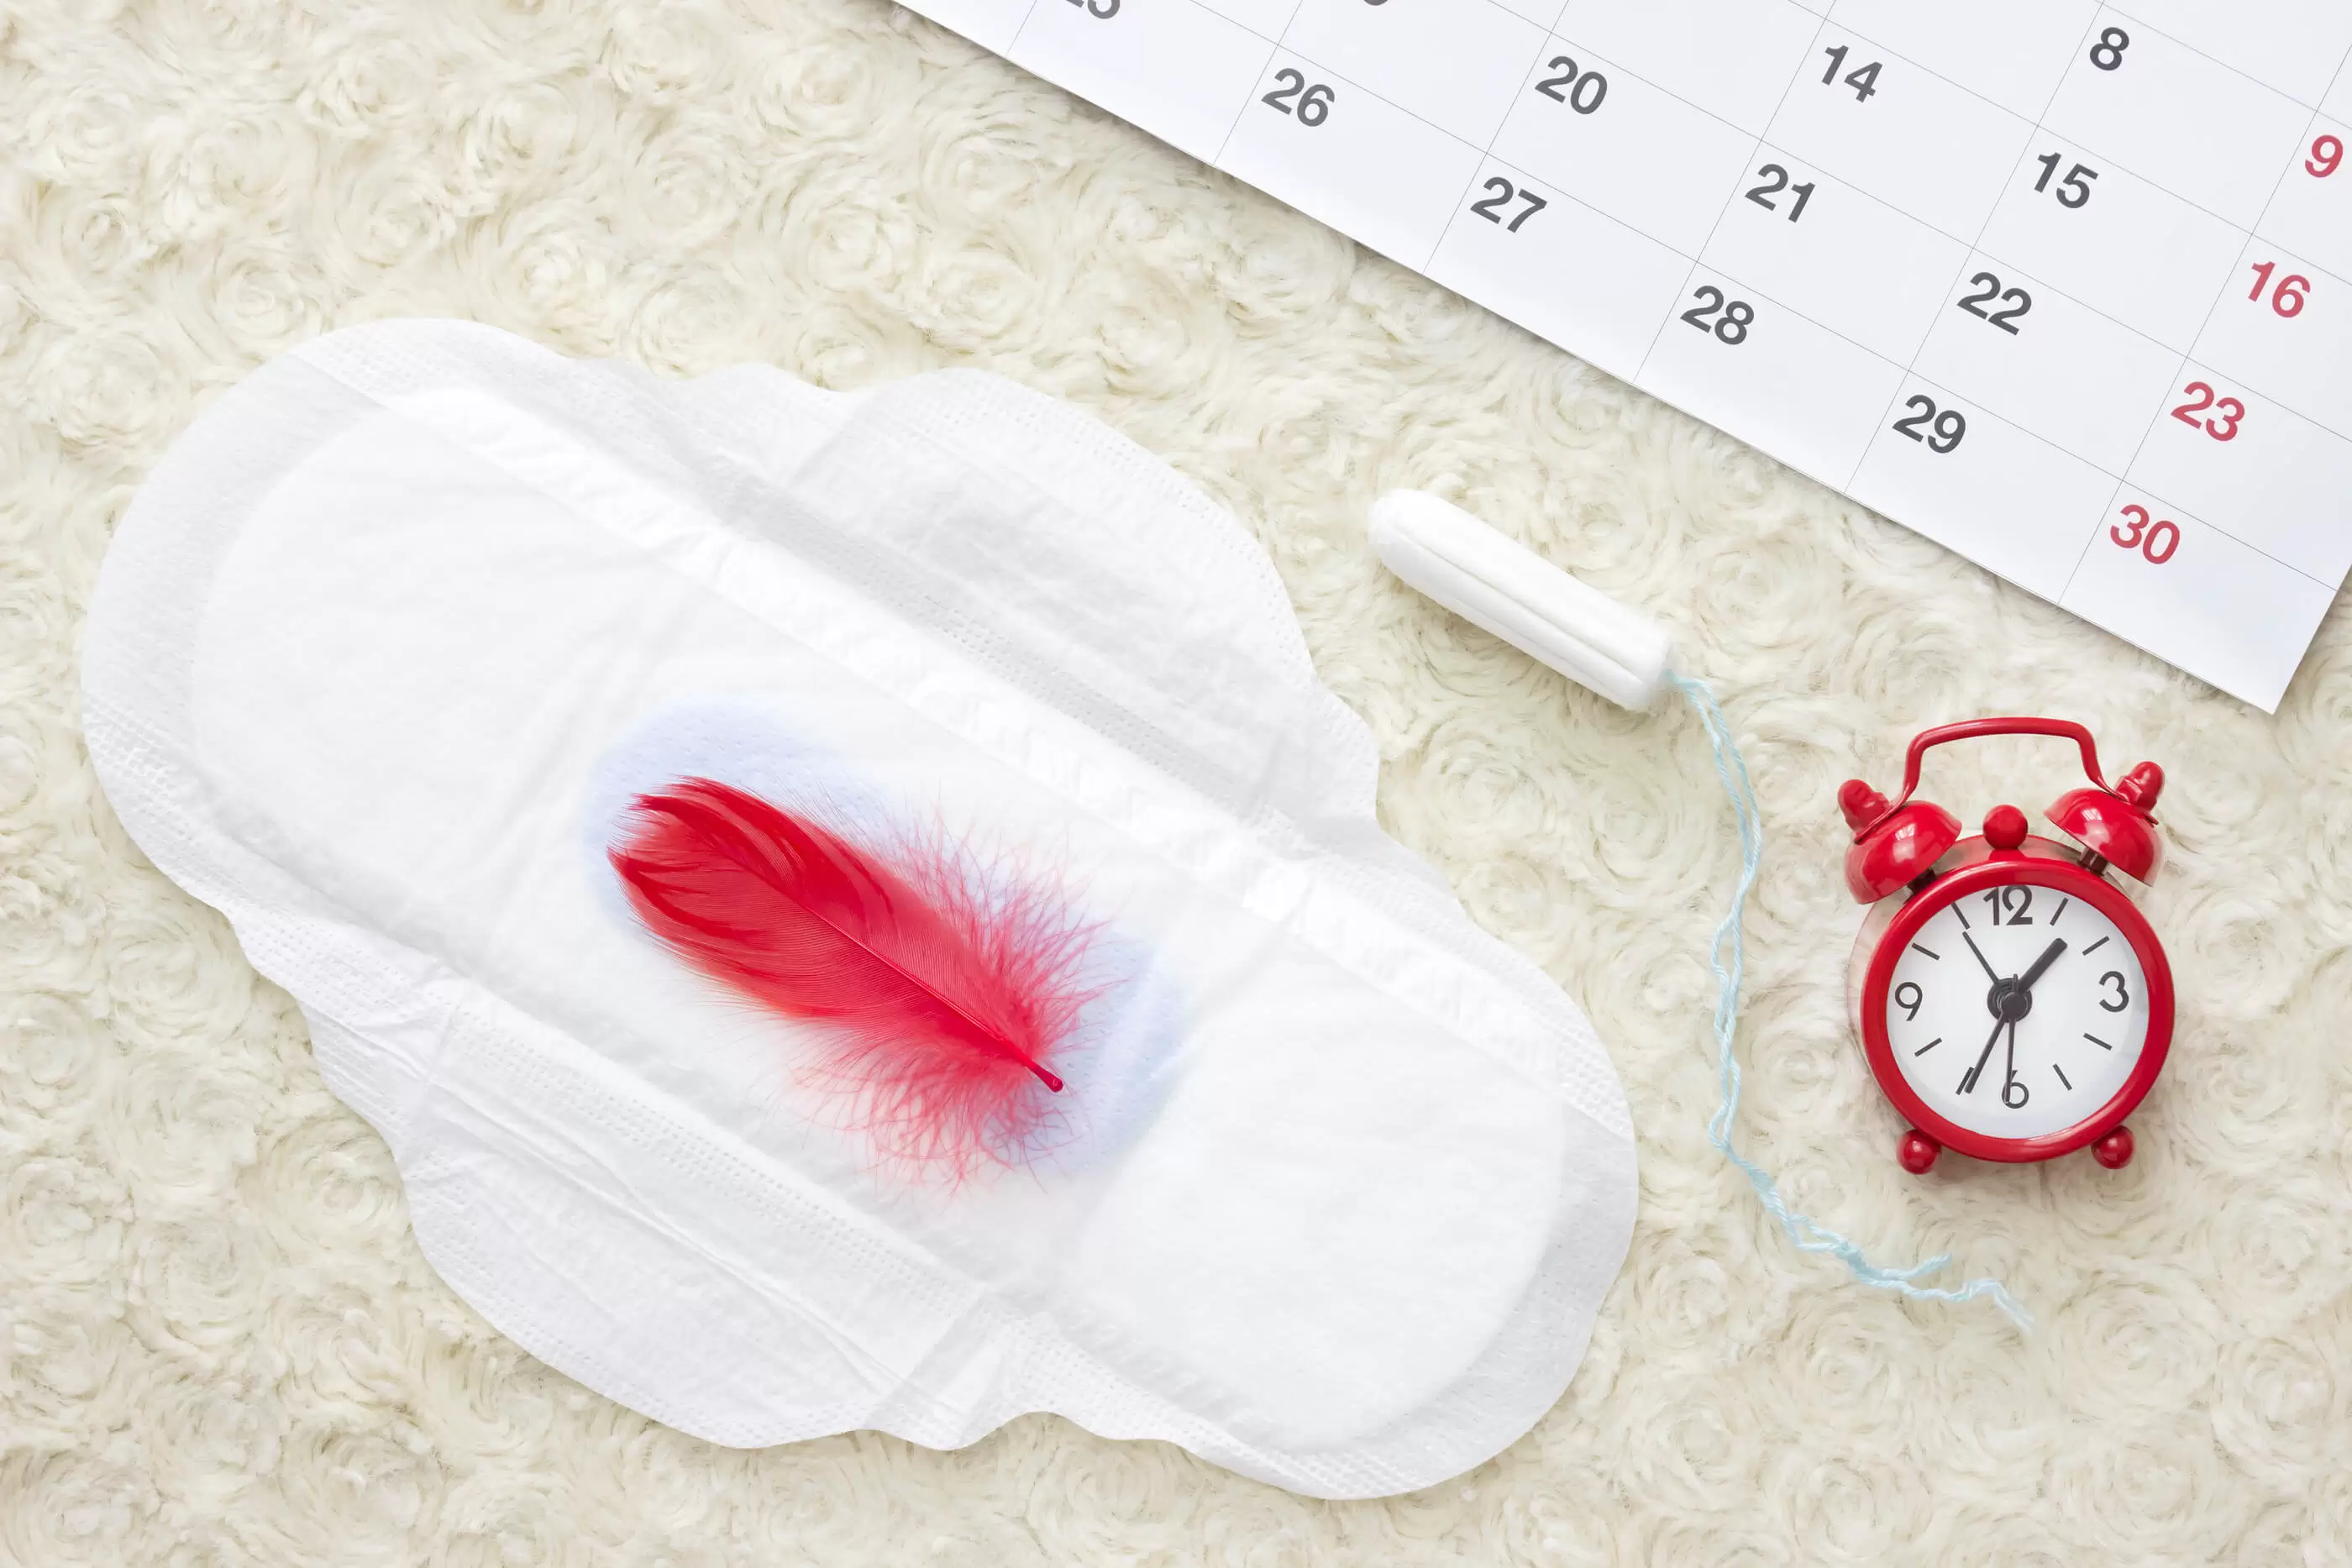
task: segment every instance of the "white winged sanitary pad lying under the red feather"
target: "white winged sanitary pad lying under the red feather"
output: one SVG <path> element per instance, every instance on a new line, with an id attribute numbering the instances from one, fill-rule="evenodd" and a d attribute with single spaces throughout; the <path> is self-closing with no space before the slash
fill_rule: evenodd
<path id="1" fill-rule="evenodd" d="M 1559 1396 L 1635 1208 L 1599 1041 L 1374 823 L 1258 545 L 1004 381 L 663 386 L 482 327 L 228 393 L 85 646 L 125 825 L 390 1143 L 433 1265 L 720 1443 L 1025 1410 L 1359 1497 Z M 1117 954 L 1061 1135 L 877 1154 L 630 919 L 673 778 L 922 823 Z"/>

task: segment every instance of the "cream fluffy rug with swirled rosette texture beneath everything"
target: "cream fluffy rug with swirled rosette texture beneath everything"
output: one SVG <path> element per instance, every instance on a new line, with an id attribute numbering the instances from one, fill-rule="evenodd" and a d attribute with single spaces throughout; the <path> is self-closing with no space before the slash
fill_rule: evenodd
<path id="1" fill-rule="evenodd" d="M 75 738 L 111 522 L 306 336 L 468 315 L 663 374 L 978 364 L 1098 411 L 1272 550 L 1383 809 L 1611 1044 L 1642 1222 L 1557 1410 L 1329 1505 L 1028 1418 L 731 1453 L 588 1396 L 430 1274 L 374 1133 Z M 1696 726 L 1414 599 L 1439 487 L 1672 621 L 1769 813 L 1745 1138 L 1705 1145 L 1731 827 Z M 0 1559 L 40 1563 L 2352 1561 L 2352 609 L 2267 719 L 884 0 L 0 0 Z M 2185 992 L 2138 1161 L 1893 1164 L 1844 1025 L 1832 792 L 1978 712 L 2154 757 Z M 1980 816 L 2060 745 L 1938 752 Z"/>

